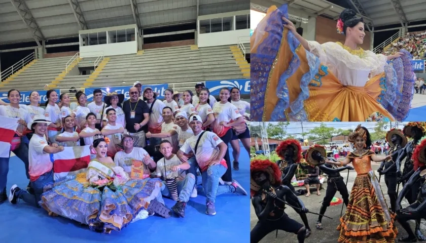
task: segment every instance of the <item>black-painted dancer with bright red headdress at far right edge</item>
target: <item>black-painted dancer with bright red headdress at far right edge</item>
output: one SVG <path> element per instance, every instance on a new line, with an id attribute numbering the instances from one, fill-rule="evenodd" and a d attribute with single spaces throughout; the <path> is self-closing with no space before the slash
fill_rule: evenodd
<path id="1" fill-rule="evenodd" d="M 396 210 L 397 220 L 401 226 L 407 231 L 408 236 L 405 238 L 399 238 L 400 242 L 416 242 L 417 237 L 408 224 L 408 220 L 420 221 L 422 218 L 426 219 L 426 140 L 423 140 L 420 145 L 413 152 L 414 157 L 414 168 L 409 174 L 412 174 L 410 179 L 402 188 L 401 193 L 398 195 Z M 411 188 L 420 184 L 420 188 L 417 194 L 417 200 L 410 204 L 407 208 L 401 209 L 401 201 L 406 193 Z"/>

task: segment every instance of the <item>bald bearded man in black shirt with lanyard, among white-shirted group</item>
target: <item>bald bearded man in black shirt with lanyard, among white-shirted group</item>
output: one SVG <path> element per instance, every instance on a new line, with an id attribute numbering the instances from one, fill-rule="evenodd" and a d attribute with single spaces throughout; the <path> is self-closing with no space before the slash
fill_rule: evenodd
<path id="1" fill-rule="evenodd" d="M 126 117 L 126 130 L 138 138 L 136 147 L 145 147 L 145 131 L 148 132 L 150 108 L 143 100 L 139 100 L 139 91 L 132 87 L 129 91 L 130 99 L 123 102 L 123 111 Z"/>

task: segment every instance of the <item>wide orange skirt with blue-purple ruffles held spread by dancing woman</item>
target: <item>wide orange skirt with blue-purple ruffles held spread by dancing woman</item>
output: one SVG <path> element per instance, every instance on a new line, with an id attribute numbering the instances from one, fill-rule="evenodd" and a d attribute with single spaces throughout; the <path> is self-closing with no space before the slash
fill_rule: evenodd
<path id="1" fill-rule="evenodd" d="M 252 121 L 402 121 L 414 94 L 411 55 L 364 87 L 343 86 L 283 27 L 287 5 L 272 6 L 251 37 Z"/>

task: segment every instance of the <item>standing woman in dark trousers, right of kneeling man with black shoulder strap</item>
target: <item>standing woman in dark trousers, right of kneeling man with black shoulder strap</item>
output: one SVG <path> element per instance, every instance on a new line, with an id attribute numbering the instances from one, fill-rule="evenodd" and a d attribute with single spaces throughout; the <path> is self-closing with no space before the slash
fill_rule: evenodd
<path id="1" fill-rule="evenodd" d="M 225 183 L 231 184 L 231 158 L 229 157 L 228 144 L 231 142 L 233 136 L 232 127 L 239 127 L 242 124 L 245 125 L 245 120 L 239 113 L 238 108 L 230 102 L 231 98 L 228 88 L 222 88 L 220 90 L 219 98 L 221 101 L 213 106 L 215 121 L 211 126 L 213 128 L 213 132 L 216 133 L 227 146 L 225 153 L 227 171 L 222 176 L 222 179 Z"/>

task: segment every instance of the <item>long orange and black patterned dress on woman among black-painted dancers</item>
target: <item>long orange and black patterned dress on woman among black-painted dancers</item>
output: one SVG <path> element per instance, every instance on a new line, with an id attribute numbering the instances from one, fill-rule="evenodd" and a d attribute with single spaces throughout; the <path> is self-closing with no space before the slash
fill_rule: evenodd
<path id="1" fill-rule="evenodd" d="M 395 214 L 387 208 L 379 181 L 371 169 L 369 150 L 362 156 L 349 153 L 357 178 L 350 192 L 346 212 L 340 218 L 338 242 L 392 243 L 398 234 Z"/>

